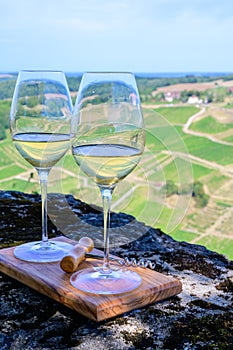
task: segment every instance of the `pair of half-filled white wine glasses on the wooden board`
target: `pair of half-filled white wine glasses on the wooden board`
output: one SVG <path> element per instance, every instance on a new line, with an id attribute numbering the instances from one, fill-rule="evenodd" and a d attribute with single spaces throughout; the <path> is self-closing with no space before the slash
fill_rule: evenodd
<path id="1" fill-rule="evenodd" d="M 16 84 L 11 130 L 16 148 L 35 166 L 40 177 L 42 242 L 19 246 L 15 255 L 28 260 L 23 256 L 27 251 L 27 256 L 46 255 L 45 261 L 51 261 L 52 251 L 60 249 L 64 254 L 66 247 L 59 248 L 58 243 L 48 240 L 46 187 L 49 170 L 71 145 L 74 160 L 101 192 L 104 262 L 102 267 L 75 272 L 70 282 L 79 290 L 97 294 L 123 293 L 137 288 L 141 284 L 138 273 L 113 268 L 109 262 L 112 193 L 117 183 L 137 166 L 145 146 L 143 114 L 135 77 L 130 73 L 84 73 L 72 111 L 64 74 L 62 83 L 55 78 L 45 80 L 42 73 L 42 77 L 35 73 L 38 75 L 34 80 L 25 79 L 25 74 L 21 73 Z M 28 105 L 29 101 L 32 107 Z"/>

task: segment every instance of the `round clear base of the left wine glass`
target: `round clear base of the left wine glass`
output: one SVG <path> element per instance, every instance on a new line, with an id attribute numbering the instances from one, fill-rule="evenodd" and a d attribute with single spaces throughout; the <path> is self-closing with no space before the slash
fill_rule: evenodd
<path id="1" fill-rule="evenodd" d="M 73 246 L 64 242 L 29 242 L 19 245 L 14 249 L 16 258 L 37 263 L 57 262 Z"/>

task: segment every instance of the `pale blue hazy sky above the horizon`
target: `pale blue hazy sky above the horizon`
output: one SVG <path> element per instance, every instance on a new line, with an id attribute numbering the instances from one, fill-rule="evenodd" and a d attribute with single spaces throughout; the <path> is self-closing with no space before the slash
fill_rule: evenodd
<path id="1" fill-rule="evenodd" d="M 232 0 L 0 0 L 0 72 L 232 72 Z"/>

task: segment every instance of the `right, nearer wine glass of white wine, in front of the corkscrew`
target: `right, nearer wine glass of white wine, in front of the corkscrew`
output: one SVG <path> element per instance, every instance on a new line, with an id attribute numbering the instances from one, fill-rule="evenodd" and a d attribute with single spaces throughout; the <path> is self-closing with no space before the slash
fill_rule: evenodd
<path id="1" fill-rule="evenodd" d="M 76 163 L 99 187 L 104 217 L 102 267 L 75 272 L 71 284 L 95 294 L 128 292 L 141 284 L 134 271 L 111 267 L 109 228 L 112 192 L 137 166 L 145 129 L 135 77 L 131 73 L 84 73 L 74 107 Z"/>

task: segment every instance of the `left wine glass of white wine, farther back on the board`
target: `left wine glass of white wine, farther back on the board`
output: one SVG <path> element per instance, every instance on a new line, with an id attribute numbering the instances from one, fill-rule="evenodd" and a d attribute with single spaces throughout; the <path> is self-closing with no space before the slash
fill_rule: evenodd
<path id="1" fill-rule="evenodd" d="M 38 172 L 42 201 L 42 241 L 16 247 L 19 259 L 59 261 L 71 248 L 49 241 L 47 230 L 48 175 L 70 148 L 71 120 L 72 102 L 63 72 L 19 72 L 10 111 L 11 135 L 16 149 Z"/>

